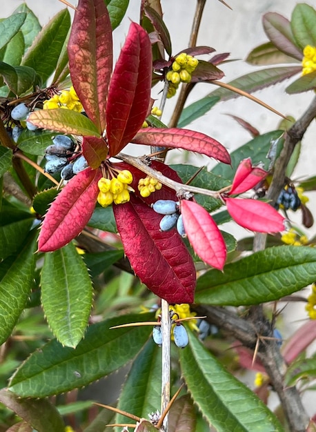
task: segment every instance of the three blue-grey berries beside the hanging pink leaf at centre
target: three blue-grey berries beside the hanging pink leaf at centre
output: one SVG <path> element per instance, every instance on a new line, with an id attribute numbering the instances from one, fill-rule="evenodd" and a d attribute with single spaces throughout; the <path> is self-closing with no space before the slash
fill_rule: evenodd
<path id="1" fill-rule="evenodd" d="M 158 199 L 152 204 L 152 209 L 159 215 L 164 215 L 159 223 L 161 231 L 168 231 L 177 227 L 179 235 L 186 237 L 184 221 L 179 213 L 179 202 L 172 201 L 172 199 Z"/>

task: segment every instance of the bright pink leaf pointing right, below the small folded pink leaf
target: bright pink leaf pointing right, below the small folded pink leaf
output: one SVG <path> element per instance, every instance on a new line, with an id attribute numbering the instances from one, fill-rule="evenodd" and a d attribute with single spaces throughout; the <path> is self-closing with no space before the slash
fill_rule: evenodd
<path id="1" fill-rule="evenodd" d="M 266 202 L 257 199 L 226 198 L 231 217 L 244 228 L 259 233 L 279 233 L 284 230 L 286 219 Z"/>

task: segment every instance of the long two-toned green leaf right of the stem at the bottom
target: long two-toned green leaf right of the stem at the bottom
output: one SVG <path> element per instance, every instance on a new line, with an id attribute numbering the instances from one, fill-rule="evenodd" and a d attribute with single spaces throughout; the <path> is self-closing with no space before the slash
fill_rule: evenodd
<path id="1" fill-rule="evenodd" d="M 284 431 L 264 402 L 233 377 L 191 331 L 188 335 L 189 344 L 180 352 L 181 372 L 208 422 L 218 432 Z"/>

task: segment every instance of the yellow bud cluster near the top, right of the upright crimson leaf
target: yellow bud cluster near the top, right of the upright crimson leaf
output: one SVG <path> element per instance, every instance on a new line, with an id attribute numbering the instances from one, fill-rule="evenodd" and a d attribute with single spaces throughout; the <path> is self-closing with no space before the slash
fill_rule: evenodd
<path id="1" fill-rule="evenodd" d="M 167 97 L 175 96 L 179 84 L 189 83 L 192 78 L 192 72 L 197 67 L 199 61 L 192 57 L 192 55 L 181 52 L 177 55 L 175 61 L 172 63 L 172 70 L 166 74 L 166 79 L 170 81 Z"/>

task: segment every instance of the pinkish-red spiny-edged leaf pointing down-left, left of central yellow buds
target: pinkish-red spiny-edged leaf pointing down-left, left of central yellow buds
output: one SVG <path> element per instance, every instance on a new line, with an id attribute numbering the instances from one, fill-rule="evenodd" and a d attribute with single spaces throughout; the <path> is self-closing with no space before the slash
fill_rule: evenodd
<path id="1" fill-rule="evenodd" d="M 41 226 L 39 251 L 56 251 L 81 233 L 95 209 L 100 178 L 100 170 L 87 168 L 61 190 Z"/>

